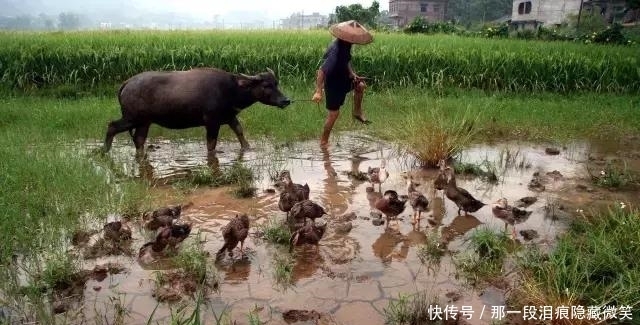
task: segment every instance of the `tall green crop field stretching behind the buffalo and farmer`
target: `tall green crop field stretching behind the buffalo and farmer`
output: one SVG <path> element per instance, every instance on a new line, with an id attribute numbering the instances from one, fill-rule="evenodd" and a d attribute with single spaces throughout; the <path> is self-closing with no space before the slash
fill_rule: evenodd
<path id="1" fill-rule="evenodd" d="M 638 46 L 376 34 L 353 65 L 374 88 L 420 86 L 530 91 L 640 91 Z M 312 82 L 327 31 L 0 33 L 0 87 L 118 84 L 145 70 L 213 66 Z"/>

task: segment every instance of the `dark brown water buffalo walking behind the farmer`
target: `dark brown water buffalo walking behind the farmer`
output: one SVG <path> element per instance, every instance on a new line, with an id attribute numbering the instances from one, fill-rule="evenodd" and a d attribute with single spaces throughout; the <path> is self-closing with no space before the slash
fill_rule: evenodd
<path id="1" fill-rule="evenodd" d="M 210 155 L 216 152 L 220 126 L 227 124 L 238 137 L 242 149 L 249 148 L 236 115 L 256 102 L 279 108 L 291 103 L 278 89 L 273 71 L 267 70 L 249 76 L 198 68 L 147 71 L 131 77 L 118 91 L 122 118 L 109 123 L 105 152 L 111 149 L 116 134 L 129 131 L 136 153 L 143 153 L 152 123 L 169 129 L 204 126 Z"/>

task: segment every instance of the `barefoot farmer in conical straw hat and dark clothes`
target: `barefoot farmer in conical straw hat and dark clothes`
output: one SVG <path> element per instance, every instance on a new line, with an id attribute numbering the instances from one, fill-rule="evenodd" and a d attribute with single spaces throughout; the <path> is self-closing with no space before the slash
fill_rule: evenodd
<path id="1" fill-rule="evenodd" d="M 351 67 L 351 45 L 369 44 L 373 41 L 371 34 L 354 20 L 335 24 L 330 28 L 336 40 L 331 43 L 324 54 L 324 63 L 318 69 L 316 90 L 312 101 L 320 103 L 322 90 L 327 95 L 326 108 L 329 111 L 320 138 L 320 146 L 329 143 L 331 129 L 340 115 L 340 107 L 351 90 L 354 90 L 353 118 L 364 123 L 371 123 L 362 113 L 362 96 L 366 87 L 364 81 Z"/>

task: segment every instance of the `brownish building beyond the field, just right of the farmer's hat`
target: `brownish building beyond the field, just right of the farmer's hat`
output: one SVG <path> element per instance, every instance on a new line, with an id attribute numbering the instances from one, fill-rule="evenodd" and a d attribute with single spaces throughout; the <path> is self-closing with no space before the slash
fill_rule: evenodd
<path id="1" fill-rule="evenodd" d="M 389 18 L 404 27 L 418 16 L 429 22 L 443 21 L 449 0 L 389 0 Z"/>

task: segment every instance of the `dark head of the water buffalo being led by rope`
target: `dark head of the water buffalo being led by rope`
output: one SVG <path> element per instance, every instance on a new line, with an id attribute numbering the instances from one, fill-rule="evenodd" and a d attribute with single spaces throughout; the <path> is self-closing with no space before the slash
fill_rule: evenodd
<path id="1" fill-rule="evenodd" d="M 239 86 L 249 90 L 255 100 L 265 105 L 280 108 L 285 108 L 291 104 L 291 100 L 278 88 L 278 79 L 273 70 L 267 68 L 267 72 L 262 72 L 255 76 L 246 74 L 240 74 L 240 76 Z"/>

